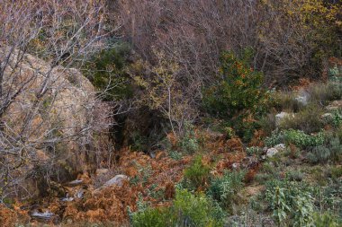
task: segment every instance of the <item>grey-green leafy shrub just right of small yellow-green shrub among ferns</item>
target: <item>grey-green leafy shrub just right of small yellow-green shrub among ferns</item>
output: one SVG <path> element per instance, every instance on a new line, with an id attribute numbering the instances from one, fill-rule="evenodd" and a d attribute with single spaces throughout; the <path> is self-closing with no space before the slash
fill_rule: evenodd
<path id="1" fill-rule="evenodd" d="M 211 180 L 207 195 L 218 201 L 223 208 L 231 211 L 232 205 L 237 202 L 235 198 L 238 191 L 244 186 L 244 178 L 244 171 L 226 172 L 223 177 Z"/>

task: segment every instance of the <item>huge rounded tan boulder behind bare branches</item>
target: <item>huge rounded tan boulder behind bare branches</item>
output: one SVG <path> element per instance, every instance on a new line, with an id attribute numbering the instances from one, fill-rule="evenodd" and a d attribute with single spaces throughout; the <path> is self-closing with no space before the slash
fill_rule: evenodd
<path id="1" fill-rule="evenodd" d="M 0 63 L 6 51 L 11 49 L 0 47 Z M 13 160 L 7 157 L 8 163 L 15 165 L 17 156 L 24 155 L 26 162 L 12 174 L 25 179 L 23 187 L 30 194 L 37 191 L 31 188 L 37 183 L 31 181 L 44 179 L 37 172 L 49 171 L 52 177 L 58 174 L 55 180 L 63 180 L 88 168 L 85 150 L 91 144 L 95 90 L 85 76 L 75 68 L 52 67 L 14 50 L 4 65 L 2 89 L 9 96 L 19 91 L 4 111 L 1 139 L 2 148 L 14 153 Z M 30 174 L 37 178 L 27 178 Z"/>

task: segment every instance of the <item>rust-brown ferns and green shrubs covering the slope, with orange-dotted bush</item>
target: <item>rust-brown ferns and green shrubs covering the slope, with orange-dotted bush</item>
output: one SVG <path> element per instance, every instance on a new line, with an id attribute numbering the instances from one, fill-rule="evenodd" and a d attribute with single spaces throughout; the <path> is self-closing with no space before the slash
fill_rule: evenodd
<path id="1" fill-rule="evenodd" d="M 257 83 L 248 85 L 248 76 L 254 81 L 255 73 L 227 55 L 232 63 L 222 67 L 235 72 L 227 74 L 229 80 L 247 80 L 238 90 L 246 96 L 234 94 L 230 83 L 224 82 L 205 101 L 210 118 L 202 126 L 186 123 L 183 136 L 168 134 L 155 157 L 122 149 L 115 171 L 130 180 L 99 194 L 89 190 L 67 206 L 50 203 L 49 210 L 63 210 L 61 223 L 340 226 L 341 83 L 331 79 L 293 92 L 261 94 Z M 296 99 L 302 91 L 310 97 L 306 102 Z M 255 108 L 249 109 L 251 104 Z M 216 109 L 213 118 L 215 105 L 222 109 Z M 224 112 L 235 106 L 236 112 Z M 275 115 L 282 111 L 288 115 L 276 122 Z M 278 147 L 278 152 L 268 155 L 271 147 Z"/>

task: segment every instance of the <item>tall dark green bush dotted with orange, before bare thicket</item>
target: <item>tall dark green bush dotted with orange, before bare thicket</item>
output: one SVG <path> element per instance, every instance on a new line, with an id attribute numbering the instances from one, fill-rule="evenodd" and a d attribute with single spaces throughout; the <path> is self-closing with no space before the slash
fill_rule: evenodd
<path id="1" fill-rule="evenodd" d="M 226 51 L 220 56 L 220 74 L 223 80 L 205 91 L 204 105 L 213 115 L 232 118 L 243 110 L 255 112 L 264 100 L 262 90 L 263 74 L 254 71 L 250 65 L 252 57 L 246 49 L 243 57 Z"/>

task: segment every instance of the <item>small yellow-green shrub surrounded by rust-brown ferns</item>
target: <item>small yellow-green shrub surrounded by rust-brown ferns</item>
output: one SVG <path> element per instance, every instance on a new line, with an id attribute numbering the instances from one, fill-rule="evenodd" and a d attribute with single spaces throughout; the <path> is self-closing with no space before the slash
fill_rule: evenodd
<path id="1" fill-rule="evenodd" d="M 209 178 L 210 170 L 209 166 L 202 163 L 202 156 L 197 155 L 191 166 L 184 170 L 184 180 L 190 183 L 190 188 L 199 188 Z"/>

